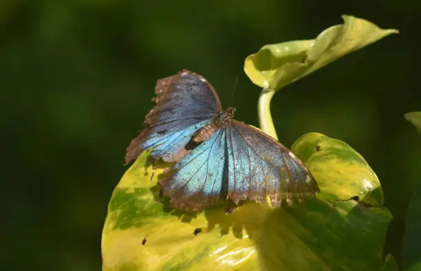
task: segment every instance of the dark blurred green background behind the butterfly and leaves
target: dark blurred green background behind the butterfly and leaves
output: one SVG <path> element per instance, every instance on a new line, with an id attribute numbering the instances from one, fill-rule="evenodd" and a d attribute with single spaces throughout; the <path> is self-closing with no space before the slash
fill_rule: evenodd
<path id="1" fill-rule="evenodd" d="M 314 39 L 341 14 L 400 34 L 288 85 L 272 116 L 286 146 L 316 131 L 367 159 L 395 217 L 385 252 L 400 259 L 421 181 L 421 137 L 402 117 L 421 110 L 419 1 L 1 0 L 1 269 L 100 270 L 107 204 L 155 81 L 203 74 L 224 107 L 257 126 L 260 89 L 244 58 Z"/>

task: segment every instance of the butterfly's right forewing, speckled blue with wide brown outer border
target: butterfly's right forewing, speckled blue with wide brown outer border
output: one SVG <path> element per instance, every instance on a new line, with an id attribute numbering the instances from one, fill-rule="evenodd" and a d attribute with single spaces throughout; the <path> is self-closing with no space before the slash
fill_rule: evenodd
<path id="1" fill-rule="evenodd" d="M 294 197 L 319 191 L 314 177 L 294 153 L 269 135 L 237 120 L 226 125 L 228 196 L 236 204 L 244 199 L 258 203 L 270 197 L 281 206 Z"/>

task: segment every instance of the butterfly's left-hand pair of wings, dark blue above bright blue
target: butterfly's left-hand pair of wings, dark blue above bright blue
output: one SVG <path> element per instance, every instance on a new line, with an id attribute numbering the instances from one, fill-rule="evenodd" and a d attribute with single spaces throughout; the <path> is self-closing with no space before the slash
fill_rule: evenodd
<path id="1" fill-rule="evenodd" d="M 222 110 L 212 85 L 203 76 L 185 69 L 158 80 L 155 94 L 152 100 L 156 105 L 144 120 L 146 129 L 127 148 L 126 164 L 152 148 L 155 159 L 180 160 L 189 152 L 185 146 L 193 133 Z"/>

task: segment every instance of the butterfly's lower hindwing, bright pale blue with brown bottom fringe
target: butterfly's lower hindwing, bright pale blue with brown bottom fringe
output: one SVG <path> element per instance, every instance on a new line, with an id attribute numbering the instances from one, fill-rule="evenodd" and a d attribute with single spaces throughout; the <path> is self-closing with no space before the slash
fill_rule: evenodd
<path id="1" fill-rule="evenodd" d="M 200 211 L 228 193 L 226 131 L 218 129 L 191 153 L 177 162 L 170 175 L 160 181 L 171 206 Z"/>

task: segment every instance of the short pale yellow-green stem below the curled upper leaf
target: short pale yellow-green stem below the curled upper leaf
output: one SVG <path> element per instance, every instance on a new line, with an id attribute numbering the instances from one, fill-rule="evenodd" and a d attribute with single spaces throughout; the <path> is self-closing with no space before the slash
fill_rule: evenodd
<path id="1" fill-rule="evenodd" d="M 274 95 L 273 89 L 262 89 L 259 104 L 257 106 L 257 112 L 259 113 L 259 126 L 261 131 L 272 136 L 272 138 L 278 140 L 277 131 L 274 129 L 272 115 L 270 114 L 270 100 Z"/>

